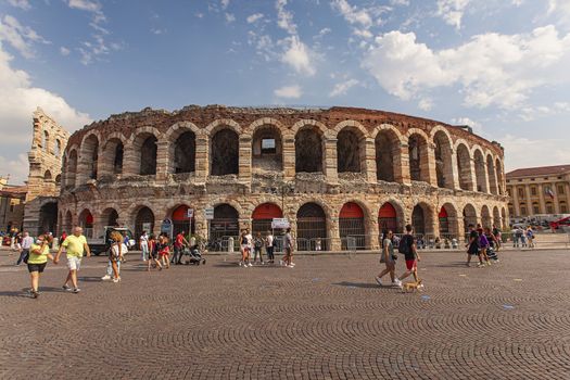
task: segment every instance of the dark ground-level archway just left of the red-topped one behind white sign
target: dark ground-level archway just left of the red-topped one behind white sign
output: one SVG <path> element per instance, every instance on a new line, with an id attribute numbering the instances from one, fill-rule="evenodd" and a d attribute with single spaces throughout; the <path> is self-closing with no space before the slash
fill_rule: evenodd
<path id="1" fill-rule="evenodd" d="M 214 207 L 214 218 L 210 221 L 210 241 L 214 250 L 227 250 L 227 239 L 233 238 L 233 244 L 239 244 L 239 214 L 229 204 L 218 204 Z"/>

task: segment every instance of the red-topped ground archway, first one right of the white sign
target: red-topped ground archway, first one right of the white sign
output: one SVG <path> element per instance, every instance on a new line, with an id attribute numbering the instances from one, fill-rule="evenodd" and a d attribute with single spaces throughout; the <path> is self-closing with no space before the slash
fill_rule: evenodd
<path id="1" fill-rule="evenodd" d="M 364 227 L 364 212 L 354 202 L 345 203 L 339 214 L 341 250 L 364 250 L 366 248 L 366 229 Z M 354 238 L 353 243 L 351 243 Z"/>

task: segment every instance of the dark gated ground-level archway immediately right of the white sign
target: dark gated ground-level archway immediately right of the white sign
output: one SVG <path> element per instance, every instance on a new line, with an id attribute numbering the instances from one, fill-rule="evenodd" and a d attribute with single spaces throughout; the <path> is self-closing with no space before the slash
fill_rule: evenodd
<path id="1" fill-rule="evenodd" d="M 327 217 L 321 206 L 305 203 L 296 212 L 296 246 L 299 251 L 328 251 Z"/>

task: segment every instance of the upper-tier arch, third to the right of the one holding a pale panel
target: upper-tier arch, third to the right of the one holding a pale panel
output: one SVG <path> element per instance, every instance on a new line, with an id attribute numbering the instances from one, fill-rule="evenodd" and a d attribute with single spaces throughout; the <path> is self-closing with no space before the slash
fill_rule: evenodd
<path id="1" fill-rule="evenodd" d="M 401 165 L 401 136 L 394 128 L 378 129 L 375 137 L 376 178 L 388 182 L 395 181 Z"/>

